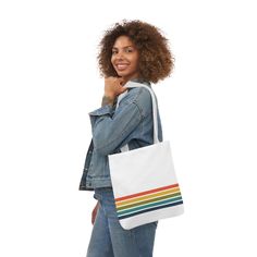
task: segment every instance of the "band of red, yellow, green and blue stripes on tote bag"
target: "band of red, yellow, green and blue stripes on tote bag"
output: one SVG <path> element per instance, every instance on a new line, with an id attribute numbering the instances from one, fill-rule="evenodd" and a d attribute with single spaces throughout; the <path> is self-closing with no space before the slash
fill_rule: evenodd
<path id="1" fill-rule="evenodd" d="M 115 198 L 117 213 L 120 220 L 182 204 L 179 184 Z"/>

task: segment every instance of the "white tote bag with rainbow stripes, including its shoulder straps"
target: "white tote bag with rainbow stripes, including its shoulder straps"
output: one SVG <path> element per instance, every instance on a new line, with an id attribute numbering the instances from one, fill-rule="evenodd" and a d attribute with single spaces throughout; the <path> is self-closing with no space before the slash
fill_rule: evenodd
<path id="1" fill-rule="evenodd" d="M 159 142 L 157 103 L 150 87 L 128 82 L 126 87 L 145 87 L 151 94 L 154 113 L 154 144 L 109 155 L 109 167 L 119 221 L 123 229 L 166 219 L 184 212 L 176 180 L 171 147 Z M 126 91 L 125 91 L 126 93 Z M 120 95 L 117 103 L 124 97 Z"/>

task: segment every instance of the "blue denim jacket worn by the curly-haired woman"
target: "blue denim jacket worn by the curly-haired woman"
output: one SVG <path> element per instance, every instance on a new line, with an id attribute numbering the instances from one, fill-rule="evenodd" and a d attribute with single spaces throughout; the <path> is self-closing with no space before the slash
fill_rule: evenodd
<path id="1" fill-rule="evenodd" d="M 151 88 L 148 82 L 133 81 Z M 79 191 L 112 186 L 108 155 L 121 152 L 120 148 L 126 144 L 130 150 L 154 144 L 151 96 L 144 87 L 127 88 L 127 94 L 121 99 L 117 110 L 115 105 L 107 105 L 89 112 L 89 118 L 93 138 L 87 150 Z M 158 100 L 157 118 L 158 138 L 162 142 Z"/>

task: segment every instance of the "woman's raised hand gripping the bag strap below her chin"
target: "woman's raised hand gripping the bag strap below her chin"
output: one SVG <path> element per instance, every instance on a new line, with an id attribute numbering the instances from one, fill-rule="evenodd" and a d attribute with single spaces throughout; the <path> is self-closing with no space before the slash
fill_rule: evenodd
<path id="1" fill-rule="evenodd" d="M 122 77 L 106 77 L 105 78 L 105 96 L 114 99 L 117 96 L 125 91 L 127 88 L 123 85 L 125 81 Z"/>

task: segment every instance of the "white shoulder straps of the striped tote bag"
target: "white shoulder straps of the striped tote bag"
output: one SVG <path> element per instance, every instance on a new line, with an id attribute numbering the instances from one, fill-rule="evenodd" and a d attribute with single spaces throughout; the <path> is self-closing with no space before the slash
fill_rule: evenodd
<path id="1" fill-rule="evenodd" d="M 149 90 L 150 93 L 150 96 L 151 96 L 151 102 L 152 102 L 152 117 L 154 117 L 154 144 L 157 144 L 159 143 L 159 139 L 158 139 L 158 121 L 157 121 L 157 103 L 156 103 L 156 98 L 155 98 L 155 94 L 154 94 L 154 90 L 146 86 L 146 85 L 143 85 L 140 83 L 136 83 L 136 82 L 127 82 L 125 84 L 125 87 L 127 88 L 133 88 L 133 87 L 145 87 L 147 90 Z M 121 95 L 119 95 L 118 97 L 118 100 L 117 100 L 117 107 L 115 109 L 119 107 L 119 103 L 121 101 L 121 99 L 127 94 L 127 90 L 122 93 Z M 123 147 L 120 148 L 121 151 L 127 151 L 128 150 L 128 146 L 125 145 Z"/>

